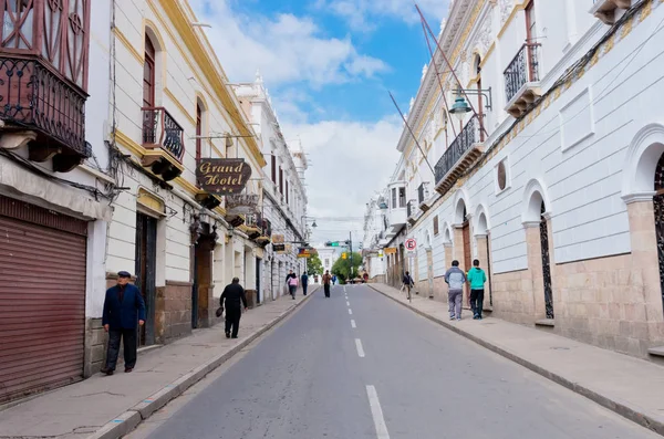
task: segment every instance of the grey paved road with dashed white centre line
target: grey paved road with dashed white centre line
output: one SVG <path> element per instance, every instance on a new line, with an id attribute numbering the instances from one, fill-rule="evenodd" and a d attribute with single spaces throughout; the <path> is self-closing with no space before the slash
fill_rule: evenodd
<path id="1" fill-rule="evenodd" d="M 149 438 L 661 439 L 363 285 L 319 291 L 175 406 Z"/>

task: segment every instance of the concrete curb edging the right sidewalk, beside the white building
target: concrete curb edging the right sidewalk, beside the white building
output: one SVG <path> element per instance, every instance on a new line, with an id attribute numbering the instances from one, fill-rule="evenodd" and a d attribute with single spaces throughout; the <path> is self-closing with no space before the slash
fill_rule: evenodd
<path id="1" fill-rule="evenodd" d="M 543 376 L 544 378 L 552 380 L 553 383 L 557 383 L 563 387 L 567 387 L 568 389 L 570 389 L 581 396 L 584 396 L 585 398 L 599 404 L 600 406 L 605 407 L 609 410 L 614 411 L 615 414 L 618 414 L 633 422 L 636 422 L 642 427 L 647 428 L 649 430 L 652 430 L 658 435 L 664 436 L 664 422 L 663 421 L 655 419 L 655 418 L 640 411 L 639 408 L 636 408 L 636 407 L 634 407 L 634 408 L 630 407 L 629 403 L 620 401 L 615 398 L 604 396 L 595 390 L 584 387 L 583 385 L 581 385 L 579 383 L 571 381 L 571 380 L 567 379 L 566 377 L 563 377 L 559 374 L 556 374 L 551 370 L 548 370 L 548 369 L 543 368 L 542 366 L 539 366 L 526 358 L 522 358 L 512 352 L 509 352 L 494 343 L 489 343 L 483 338 L 479 338 L 473 334 L 469 334 L 466 331 L 459 328 L 458 326 L 452 325 L 448 322 L 445 322 L 438 317 L 434 317 L 433 315 L 427 314 L 424 311 L 421 311 L 408 303 L 402 302 L 398 299 L 393 297 L 392 295 L 380 291 L 378 289 L 372 286 L 371 284 L 367 284 L 367 285 L 372 290 L 376 291 L 377 293 L 381 293 L 384 296 L 392 299 L 394 302 L 409 309 L 411 311 L 414 311 L 415 313 L 422 315 L 423 317 L 426 317 L 426 318 L 430 320 L 432 322 L 435 322 L 435 323 L 446 327 L 447 330 L 449 330 L 456 334 L 459 334 L 459 335 L 477 343 L 478 345 L 480 345 L 489 351 L 492 351 L 496 354 L 501 355 L 505 358 L 507 358 L 511 362 L 515 362 L 515 363 L 535 372 L 536 374 Z"/>

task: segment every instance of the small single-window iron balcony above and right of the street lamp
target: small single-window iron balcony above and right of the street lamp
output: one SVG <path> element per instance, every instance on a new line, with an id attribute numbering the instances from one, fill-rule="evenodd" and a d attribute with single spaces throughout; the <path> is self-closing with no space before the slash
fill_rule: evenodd
<path id="1" fill-rule="evenodd" d="M 540 95 L 539 48 L 537 43 L 526 43 L 505 71 L 505 93 L 507 112 L 519 117 Z"/>

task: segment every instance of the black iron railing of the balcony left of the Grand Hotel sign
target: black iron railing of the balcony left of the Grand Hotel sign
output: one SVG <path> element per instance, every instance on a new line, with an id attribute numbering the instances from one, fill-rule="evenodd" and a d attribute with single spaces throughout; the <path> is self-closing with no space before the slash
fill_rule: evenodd
<path id="1" fill-rule="evenodd" d="M 162 148 L 177 161 L 185 155 L 185 130 L 164 107 L 143 107 L 143 145 Z"/>

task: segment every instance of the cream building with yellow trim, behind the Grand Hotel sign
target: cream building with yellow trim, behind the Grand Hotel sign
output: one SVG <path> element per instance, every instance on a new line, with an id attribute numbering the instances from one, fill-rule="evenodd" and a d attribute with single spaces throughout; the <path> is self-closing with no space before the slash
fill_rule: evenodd
<path id="1" fill-rule="evenodd" d="M 147 304 L 141 345 L 168 343 L 216 321 L 234 276 L 260 300 L 269 228 L 260 216 L 227 211 L 237 192 L 206 190 L 197 167 L 210 158 L 243 161 L 251 177 L 242 195 L 260 197 L 266 161 L 188 3 L 114 8 L 107 138 L 122 191 L 108 229 L 107 280 L 135 273 Z"/>

